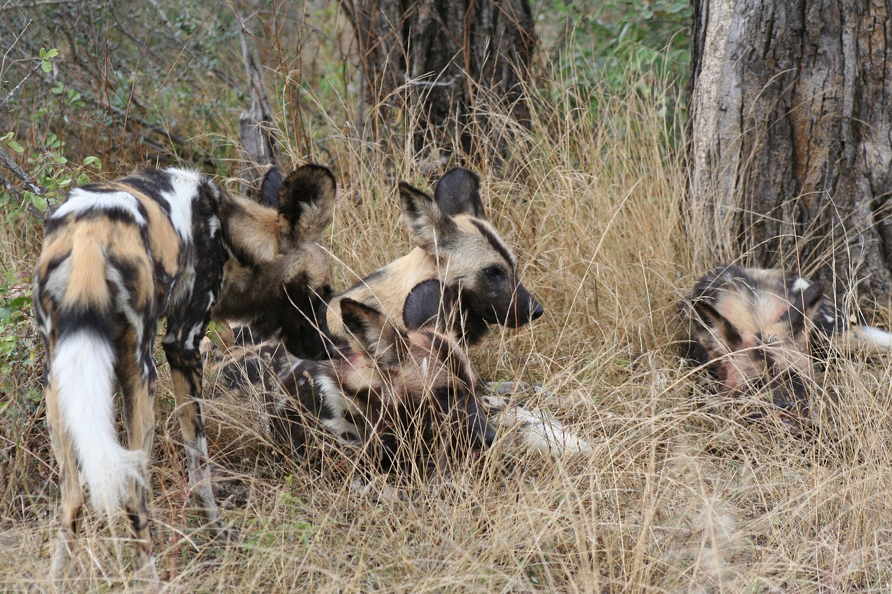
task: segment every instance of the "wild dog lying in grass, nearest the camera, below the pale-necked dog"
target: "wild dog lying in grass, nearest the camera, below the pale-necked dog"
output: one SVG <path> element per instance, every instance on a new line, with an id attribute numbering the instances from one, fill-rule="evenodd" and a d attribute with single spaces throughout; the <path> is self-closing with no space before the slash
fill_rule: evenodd
<path id="1" fill-rule="evenodd" d="M 293 359 L 268 396 L 274 439 L 305 455 L 321 425 L 384 471 L 442 472 L 450 457 L 491 445 L 458 341 L 431 327 L 402 331 L 351 299 L 340 311 L 349 347 L 327 361 Z"/>

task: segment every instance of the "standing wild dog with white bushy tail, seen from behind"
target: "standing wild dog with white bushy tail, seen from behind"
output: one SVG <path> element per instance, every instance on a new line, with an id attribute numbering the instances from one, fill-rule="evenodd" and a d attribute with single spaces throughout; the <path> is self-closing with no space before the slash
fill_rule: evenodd
<path id="1" fill-rule="evenodd" d="M 325 344 L 314 318 L 330 294 L 320 244 L 335 179 L 306 165 L 287 177 L 271 209 L 184 169 L 144 169 L 72 190 L 45 226 L 34 276 L 46 348 L 46 409 L 62 491 L 54 579 L 70 568 L 86 484 L 109 514 L 123 501 L 136 565 L 154 576 L 146 490 L 154 431 L 153 343 L 170 366 L 190 488 L 212 532 L 231 539 L 211 489 L 202 417 L 199 342 L 211 317 L 279 333 L 301 357 Z M 120 389 L 128 448 L 115 433 Z"/>

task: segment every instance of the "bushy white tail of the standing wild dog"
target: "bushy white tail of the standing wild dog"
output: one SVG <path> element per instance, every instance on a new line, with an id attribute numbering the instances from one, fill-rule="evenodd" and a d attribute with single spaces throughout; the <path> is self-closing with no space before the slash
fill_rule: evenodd
<path id="1" fill-rule="evenodd" d="M 80 331 L 57 343 L 50 367 L 80 480 L 93 507 L 107 513 L 120 506 L 128 479 L 143 483 L 145 464 L 143 452 L 123 448 L 115 433 L 114 362 L 110 344 Z"/>

